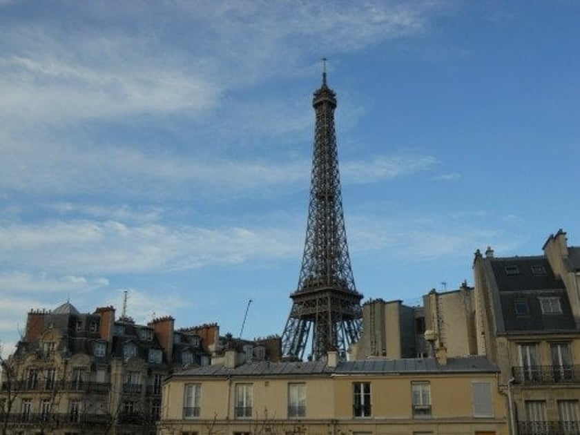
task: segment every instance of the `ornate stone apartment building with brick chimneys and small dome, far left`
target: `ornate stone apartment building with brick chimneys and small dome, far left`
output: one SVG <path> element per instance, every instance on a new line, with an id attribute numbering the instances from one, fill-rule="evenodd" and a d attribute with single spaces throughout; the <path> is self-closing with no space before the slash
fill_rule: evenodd
<path id="1" fill-rule="evenodd" d="M 209 364 L 204 347 L 218 332 L 217 325 L 176 331 L 170 316 L 137 325 L 115 319 L 113 307 L 79 313 L 70 302 L 30 311 L 3 365 L 1 431 L 155 434 L 162 381 L 177 367 Z"/>

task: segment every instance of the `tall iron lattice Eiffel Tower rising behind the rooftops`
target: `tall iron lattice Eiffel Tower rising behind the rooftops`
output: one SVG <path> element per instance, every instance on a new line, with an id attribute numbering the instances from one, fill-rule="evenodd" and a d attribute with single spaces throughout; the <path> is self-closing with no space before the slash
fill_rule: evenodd
<path id="1" fill-rule="evenodd" d="M 345 358 L 362 327 L 360 300 L 349 258 L 345 218 L 342 213 L 338 148 L 334 131 L 336 94 L 327 86 L 314 93 L 316 112 L 308 224 L 298 289 L 282 333 L 282 354 L 302 360 L 307 343 L 309 358 L 320 360 L 328 351 Z"/>

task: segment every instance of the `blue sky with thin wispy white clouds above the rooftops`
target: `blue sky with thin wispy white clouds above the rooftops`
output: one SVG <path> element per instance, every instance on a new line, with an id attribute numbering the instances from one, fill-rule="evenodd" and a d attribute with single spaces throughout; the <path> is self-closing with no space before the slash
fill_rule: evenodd
<path id="1" fill-rule="evenodd" d="M 120 315 L 125 291 L 139 323 L 281 335 L 322 57 L 363 301 L 472 285 L 487 246 L 577 246 L 579 21 L 574 0 L 0 0 L 3 351 L 30 309 Z"/>

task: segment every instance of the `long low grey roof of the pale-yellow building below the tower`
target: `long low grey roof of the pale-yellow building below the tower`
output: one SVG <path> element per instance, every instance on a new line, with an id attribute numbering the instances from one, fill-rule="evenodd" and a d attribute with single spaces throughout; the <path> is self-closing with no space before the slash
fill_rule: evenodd
<path id="1" fill-rule="evenodd" d="M 209 365 L 173 374 L 180 376 L 330 376 L 341 374 L 437 374 L 437 373 L 496 373 L 499 369 L 485 356 L 447 358 L 446 365 L 438 365 L 435 358 L 407 358 L 398 360 L 341 361 L 328 367 L 325 361 L 307 363 L 247 363 L 235 368 Z"/>

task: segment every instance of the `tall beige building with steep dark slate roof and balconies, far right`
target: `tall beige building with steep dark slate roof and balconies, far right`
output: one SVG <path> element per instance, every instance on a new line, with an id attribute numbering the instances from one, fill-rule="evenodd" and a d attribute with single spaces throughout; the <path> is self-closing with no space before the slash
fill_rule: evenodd
<path id="1" fill-rule="evenodd" d="M 543 250 L 476 252 L 477 348 L 501 369 L 512 433 L 580 434 L 580 248 L 560 230 Z"/>

